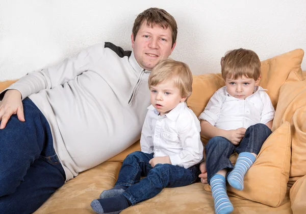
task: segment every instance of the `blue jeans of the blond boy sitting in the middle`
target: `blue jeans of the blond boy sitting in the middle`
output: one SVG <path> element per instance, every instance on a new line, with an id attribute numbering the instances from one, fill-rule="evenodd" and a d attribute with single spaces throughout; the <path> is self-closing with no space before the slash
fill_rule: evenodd
<path id="1" fill-rule="evenodd" d="M 115 185 L 129 186 L 122 194 L 134 205 L 159 194 L 165 187 L 186 186 L 200 174 L 199 164 L 185 169 L 177 165 L 149 164 L 153 153 L 133 152 L 123 160 Z M 140 179 L 141 176 L 146 176 Z"/>

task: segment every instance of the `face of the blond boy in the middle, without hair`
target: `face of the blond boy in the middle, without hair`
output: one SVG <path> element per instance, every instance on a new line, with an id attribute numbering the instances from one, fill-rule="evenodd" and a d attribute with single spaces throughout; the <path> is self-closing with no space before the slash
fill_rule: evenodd
<path id="1" fill-rule="evenodd" d="M 165 80 L 158 85 L 150 87 L 151 104 L 160 115 L 164 115 L 175 108 L 186 98 L 182 97 L 180 89 L 175 87 L 173 81 Z"/>

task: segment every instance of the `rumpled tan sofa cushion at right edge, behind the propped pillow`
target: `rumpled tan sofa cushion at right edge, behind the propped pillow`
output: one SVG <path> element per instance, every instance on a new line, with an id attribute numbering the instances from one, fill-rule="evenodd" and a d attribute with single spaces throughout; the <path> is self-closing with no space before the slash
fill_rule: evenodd
<path id="1" fill-rule="evenodd" d="M 289 122 L 292 130 L 292 156 L 288 185 L 306 175 L 306 79 L 285 83 L 280 92 L 272 130 Z"/>

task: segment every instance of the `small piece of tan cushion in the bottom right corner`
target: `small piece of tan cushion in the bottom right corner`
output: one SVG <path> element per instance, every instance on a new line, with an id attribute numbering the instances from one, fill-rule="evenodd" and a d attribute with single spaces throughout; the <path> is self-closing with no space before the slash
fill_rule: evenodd
<path id="1" fill-rule="evenodd" d="M 291 208 L 294 214 L 304 214 L 306 210 L 306 175 L 299 178 L 290 188 Z"/>

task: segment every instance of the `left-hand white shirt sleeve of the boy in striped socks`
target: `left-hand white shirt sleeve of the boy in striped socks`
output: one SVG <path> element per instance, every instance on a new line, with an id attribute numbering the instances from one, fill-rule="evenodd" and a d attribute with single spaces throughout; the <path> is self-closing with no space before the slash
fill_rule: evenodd
<path id="1" fill-rule="evenodd" d="M 218 92 L 215 92 L 209 100 L 204 111 L 200 114 L 199 119 L 209 122 L 211 125 L 215 125 L 219 120 L 219 115 L 222 107 L 222 99 Z"/>

